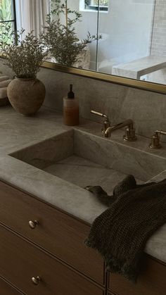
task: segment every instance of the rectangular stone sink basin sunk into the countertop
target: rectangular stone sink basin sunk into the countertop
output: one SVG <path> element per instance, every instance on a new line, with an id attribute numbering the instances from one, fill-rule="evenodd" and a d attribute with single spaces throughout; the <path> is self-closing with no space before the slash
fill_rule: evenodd
<path id="1" fill-rule="evenodd" d="M 111 193 L 126 175 L 146 182 L 162 170 L 166 159 L 79 130 L 63 132 L 10 156 L 79 187 L 101 185 Z"/>

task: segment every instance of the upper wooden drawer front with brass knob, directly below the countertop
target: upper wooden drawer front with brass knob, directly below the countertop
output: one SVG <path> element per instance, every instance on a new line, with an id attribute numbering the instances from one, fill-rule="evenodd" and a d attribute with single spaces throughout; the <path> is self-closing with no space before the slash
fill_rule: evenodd
<path id="1" fill-rule="evenodd" d="M 103 259 L 84 246 L 88 225 L 4 182 L 0 182 L 0 201 L 1 223 L 103 284 Z M 31 230 L 29 220 L 38 220 L 39 225 Z"/>

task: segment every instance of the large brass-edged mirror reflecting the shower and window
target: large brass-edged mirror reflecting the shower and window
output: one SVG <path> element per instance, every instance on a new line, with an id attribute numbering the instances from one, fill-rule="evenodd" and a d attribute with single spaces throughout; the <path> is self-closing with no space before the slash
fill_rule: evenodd
<path id="1" fill-rule="evenodd" d="M 59 22 L 65 27 L 71 25 L 75 29 L 77 42 L 73 39 L 72 44 L 84 45 L 77 51 L 75 62 L 67 64 L 66 56 L 60 59 L 53 51 L 48 56 L 50 68 L 58 63 L 67 65 L 72 73 L 86 70 L 86 75 L 89 71 L 92 77 L 93 71 L 116 77 L 117 82 L 120 82 L 119 77 L 126 77 L 144 81 L 150 89 L 152 84 L 149 82 L 166 84 L 166 0 L 0 0 L 0 30 L 2 23 L 11 22 L 18 30 L 23 27 L 25 32 L 34 30 L 39 35 L 42 27 L 48 26 L 48 13 L 51 13 L 51 22 Z M 65 39 L 64 34 L 61 39 L 65 54 L 69 51 L 72 56 L 73 50 L 68 47 L 71 40 Z M 59 40 L 54 45 L 56 48 L 61 46 L 59 51 L 62 52 Z M 49 67 L 49 63 L 46 66 Z M 72 67 L 81 72 L 73 72 Z M 60 70 L 59 65 L 57 69 Z M 136 85 L 130 81 L 131 85 Z"/>

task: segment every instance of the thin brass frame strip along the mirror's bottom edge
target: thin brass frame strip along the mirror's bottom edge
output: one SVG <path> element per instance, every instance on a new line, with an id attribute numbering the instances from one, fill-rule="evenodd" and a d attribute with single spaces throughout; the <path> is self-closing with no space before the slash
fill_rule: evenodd
<path id="1" fill-rule="evenodd" d="M 115 75 L 94 72 L 92 70 L 83 70 L 80 68 L 69 68 L 69 67 L 66 67 L 65 65 L 59 65 L 58 63 L 50 63 L 48 61 L 44 61 L 41 67 L 48 68 L 51 70 L 56 70 L 58 72 L 72 74 L 72 75 L 89 77 L 91 79 L 96 79 L 96 80 L 100 80 L 104 82 L 120 84 L 127 87 L 133 87 L 133 88 L 148 90 L 151 92 L 158 92 L 160 94 L 166 94 L 166 84 L 158 84 L 153 82 L 135 80 L 135 79 L 127 78 L 127 77 L 120 77 Z"/>

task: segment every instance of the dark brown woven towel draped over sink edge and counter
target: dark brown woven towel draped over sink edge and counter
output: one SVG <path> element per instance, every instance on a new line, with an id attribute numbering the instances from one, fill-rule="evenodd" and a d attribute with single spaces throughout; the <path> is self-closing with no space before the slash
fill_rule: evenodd
<path id="1" fill-rule="evenodd" d="M 103 196 L 110 208 L 94 220 L 85 245 L 101 253 L 108 271 L 136 282 L 146 241 L 166 222 L 166 180 L 136 185 L 129 175 L 113 196 Z"/>

